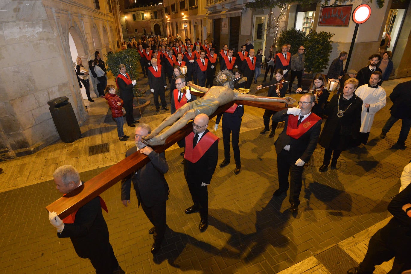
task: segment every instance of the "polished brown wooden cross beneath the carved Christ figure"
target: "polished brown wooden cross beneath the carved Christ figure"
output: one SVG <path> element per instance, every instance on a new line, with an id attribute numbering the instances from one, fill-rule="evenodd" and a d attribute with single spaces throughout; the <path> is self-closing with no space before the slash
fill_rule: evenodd
<path id="1" fill-rule="evenodd" d="M 192 92 L 194 93 L 194 92 Z M 196 92 L 195 95 L 203 96 L 203 92 Z M 218 115 L 229 109 L 234 103 L 247 106 L 255 106 L 257 108 L 266 108 L 272 111 L 280 111 L 285 108 L 284 103 L 263 103 L 263 102 L 253 102 L 253 101 L 233 101 L 224 106 L 217 108 L 217 111 L 210 118 Z M 157 153 L 164 152 L 167 148 L 171 147 L 174 143 L 185 138 L 190 132 L 192 132 L 192 123 L 188 123 L 185 127 L 175 132 L 166 139 L 164 145 L 158 145 L 152 147 Z M 83 184 L 82 187 L 78 187 L 67 193 L 64 197 L 55 200 L 50 205 L 46 206 L 48 211 L 57 212 L 60 219 L 63 219 L 80 207 L 90 202 L 92 199 L 112 187 L 115 183 L 125 178 L 127 175 L 133 173 L 135 170 L 143 167 L 148 163 L 150 159 L 147 155 L 140 152 L 135 152 L 129 157 L 123 159 L 122 161 L 116 163 L 115 165 L 107 168 L 99 175 L 90 179 L 87 184 Z"/>

